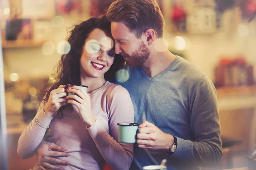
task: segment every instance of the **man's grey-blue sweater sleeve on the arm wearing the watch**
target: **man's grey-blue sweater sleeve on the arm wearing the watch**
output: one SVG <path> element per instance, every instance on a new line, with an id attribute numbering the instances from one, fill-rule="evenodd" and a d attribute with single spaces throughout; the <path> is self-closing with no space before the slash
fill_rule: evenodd
<path id="1" fill-rule="evenodd" d="M 210 79 L 204 75 L 191 99 L 189 113 L 193 141 L 177 137 L 177 149 L 172 156 L 191 161 L 197 166 L 221 161 L 221 128 L 217 94 Z"/>

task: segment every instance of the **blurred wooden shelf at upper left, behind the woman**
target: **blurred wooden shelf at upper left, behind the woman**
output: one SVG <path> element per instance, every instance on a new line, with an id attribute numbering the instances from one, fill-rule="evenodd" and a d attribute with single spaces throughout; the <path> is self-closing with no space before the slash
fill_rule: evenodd
<path id="1" fill-rule="evenodd" d="M 44 42 L 35 42 L 33 40 L 2 40 L 2 48 L 29 48 L 29 47 L 41 47 Z"/>

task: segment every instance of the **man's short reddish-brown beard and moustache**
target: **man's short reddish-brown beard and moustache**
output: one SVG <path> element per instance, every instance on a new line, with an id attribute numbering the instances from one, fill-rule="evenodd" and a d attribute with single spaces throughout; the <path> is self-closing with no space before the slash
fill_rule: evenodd
<path id="1" fill-rule="evenodd" d="M 124 51 L 121 54 L 124 57 L 127 65 L 134 67 L 142 65 L 145 61 L 147 61 L 150 51 L 143 42 L 140 42 L 139 48 L 135 50 L 131 56 L 126 54 Z"/>

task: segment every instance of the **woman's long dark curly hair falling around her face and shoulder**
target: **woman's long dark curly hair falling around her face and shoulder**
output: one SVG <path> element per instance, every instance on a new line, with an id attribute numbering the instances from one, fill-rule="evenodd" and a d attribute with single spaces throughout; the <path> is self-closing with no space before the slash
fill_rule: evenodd
<path id="1" fill-rule="evenodd" d="M 45 103 L 49 99 L 50 92 L 59 87 L 59 85 L 67 84 L 81 84 L 80 79 L 80 58 L 83 51 L 84 42 L 89 34 L 95 29 L 99 28 L 105 34 L 111 36 L 111 23 L 107 17 L 90 18 L 80 24 L 74 26 L 70 31 L 68 42 L 70 43 L 70 51 L 68 54 L 61 55 L 61 60 L 58 63 L 57 76 L 55 83 L 46 91 L 45 97 L 42 99 Z M 110 82 L 115 82 L 115 73 L 122 67 L 124 59 L 120 54 L 115 54 L 113 65 L 105 73 L 104 77 Z M 62 109 L 61 109 L 62 108 Z M 59 111 L 63 110 L 61 107 Z"/>

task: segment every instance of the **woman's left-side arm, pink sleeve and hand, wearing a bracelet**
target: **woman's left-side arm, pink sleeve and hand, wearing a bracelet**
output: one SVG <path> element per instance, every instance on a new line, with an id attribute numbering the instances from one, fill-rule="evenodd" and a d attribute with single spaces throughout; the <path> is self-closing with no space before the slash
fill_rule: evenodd
<path id="1" fill-rule="evenodd" d="M 50 92 L 47 103 L 44 105 L 44 102 L 41 102 L 41 107 L 39 107 L 35 118 L 21 134 L 17 149 L 21 158 L 28 159 L 35 154 L 36 148 L 41 143 L 47 127 L 52 121 L 52 116 L 66 104 L 66 99 L 63 98 L 67 95 L 64 88 L 65 85 L 60 85 Z"/>

